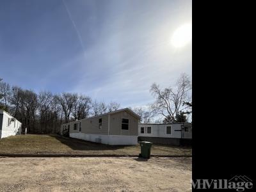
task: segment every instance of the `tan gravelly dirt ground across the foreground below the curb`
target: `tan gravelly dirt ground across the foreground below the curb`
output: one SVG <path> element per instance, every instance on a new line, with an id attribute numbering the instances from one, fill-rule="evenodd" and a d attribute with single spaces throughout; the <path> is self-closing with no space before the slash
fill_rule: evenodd
<path id="1" fill-rule="evenodd" d="M 191 158 L 0 158 L 0 191 L 191 191 Z"/>

